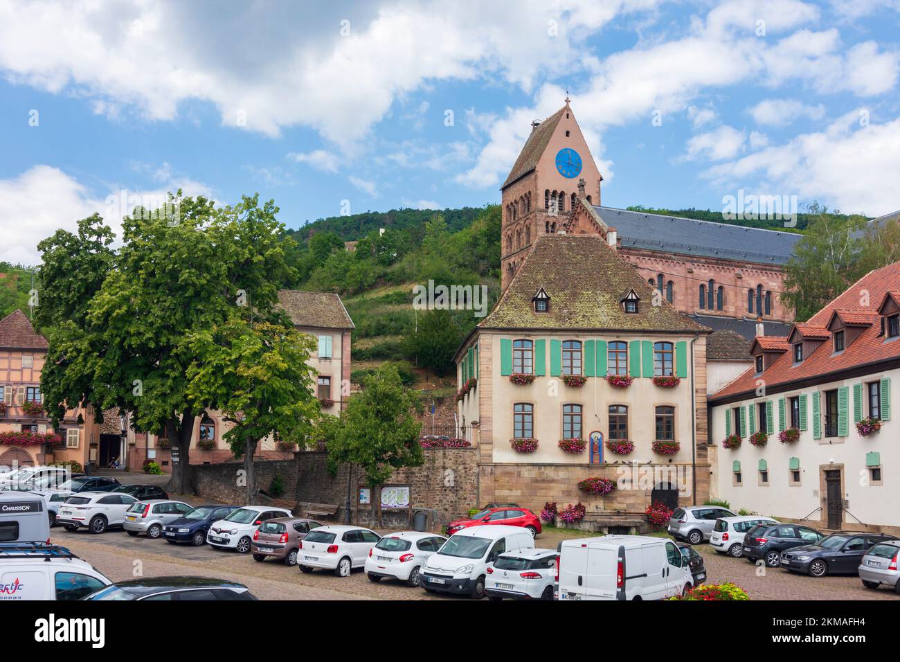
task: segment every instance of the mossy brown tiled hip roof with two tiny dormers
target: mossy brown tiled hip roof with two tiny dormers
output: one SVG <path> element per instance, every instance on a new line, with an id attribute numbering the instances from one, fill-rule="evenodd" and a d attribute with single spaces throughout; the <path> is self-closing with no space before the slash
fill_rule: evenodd
<path id="1" fill-rule="evenodd" d="M 536 313 L 532 297 L 543 287 L 550 310 Z M 634 289 L 638 313 L 626 313 L 620 300 Z M 707 327 L 663 301 L 637 269 L 598 235 L 545 234 L 538 237 L 482 329 L 567 329 L 705 333 Z"/>

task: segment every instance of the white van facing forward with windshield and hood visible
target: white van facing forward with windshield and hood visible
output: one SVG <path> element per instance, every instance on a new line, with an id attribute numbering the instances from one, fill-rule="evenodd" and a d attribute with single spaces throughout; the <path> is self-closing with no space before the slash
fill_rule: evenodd
<path id="1" fill-rule="evenodd" d="M 450 536 L 428 558 L 422 573 L 422 588 L 428 593 L 470 595 L 480 600 L 484 597 L 488 564 L 503 552 L 534 547 L 534 536 L 520 526 L 470 526 Z"/>

